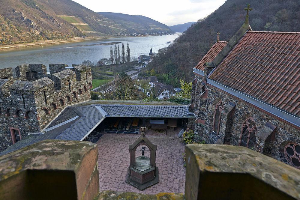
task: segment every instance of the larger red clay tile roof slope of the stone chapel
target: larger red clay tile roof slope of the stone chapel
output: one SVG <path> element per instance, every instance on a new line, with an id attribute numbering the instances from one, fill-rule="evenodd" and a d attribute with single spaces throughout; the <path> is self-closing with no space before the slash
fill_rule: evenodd
<path id="1" fill-rule="evenodd" d="M 300 32 L 246 32 L 209 79 L 299 116 Z"/>

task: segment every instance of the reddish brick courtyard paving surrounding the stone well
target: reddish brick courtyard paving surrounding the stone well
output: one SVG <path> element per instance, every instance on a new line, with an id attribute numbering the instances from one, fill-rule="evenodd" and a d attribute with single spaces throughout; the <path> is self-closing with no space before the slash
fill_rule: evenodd
<path id="1" fill-rule="evenodd" d="M 185 168 L 182 158 L 184 144 L 175 133 L 167 136 L 165 133 L 146 134 L 148 139 L 157 145 L 156 166 L 159 169 L 159 183 L 143 191 L 125 183 L 129 166 L 128 145 L 139 136 L 140 134 L 104 134 L 97 142 L 100 190 L 146 194 L 184 193 Z M 137 152 L 137 155 L 140 153 Z"/>

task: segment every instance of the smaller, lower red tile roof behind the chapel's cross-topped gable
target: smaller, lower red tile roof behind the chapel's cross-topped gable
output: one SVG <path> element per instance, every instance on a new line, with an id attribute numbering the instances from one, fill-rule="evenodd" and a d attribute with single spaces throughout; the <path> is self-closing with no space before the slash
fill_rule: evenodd
<path id="1" fill-rule="evenodd" d="M 228 42 L 218 41 L 214 43 L 214 45 L 209 49 L 209 51 L 205 54 L 205 56 L 201 59 L 201 61 L 196 65 L 196 69 L 204 71 L 204 63 L 211 62 L 214 60 L 214 57 L 218 55 L 218 53 L 224 48 L 224 46 Z"/>

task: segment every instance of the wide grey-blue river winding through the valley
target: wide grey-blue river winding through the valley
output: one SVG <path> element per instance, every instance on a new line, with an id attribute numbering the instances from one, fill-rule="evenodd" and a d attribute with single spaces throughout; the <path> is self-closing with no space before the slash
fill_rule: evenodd
<path id="1" fill-rule="evenodd" d="M 167 47 L 167 42 L 179 36 L 173 35 L 147 36 L 147 37 L 119 37 L 109 39 L 90 40 L 84 42 L 73 42 L 45 46 L 26 47 L 23 49 L 12 49 L 0 52 L 0 69 L 16 67 L 20 64 L 44 64 L 49 63 L 80 64 L 83 60 L 97 63 L 101 58 L 110 57 L 110 45 L 97 45 L 108 42 L 122 42 L 125 46 L 129 43 L 131 58 L 139 55 L 149 55 L 150 47 L 153 52 Z M 122 43 L 120 43 L 120 51 Z"/>

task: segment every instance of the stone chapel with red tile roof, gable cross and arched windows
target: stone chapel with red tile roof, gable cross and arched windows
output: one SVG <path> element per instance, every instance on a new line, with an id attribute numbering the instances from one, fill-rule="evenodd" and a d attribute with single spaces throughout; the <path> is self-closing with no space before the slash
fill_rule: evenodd
<path id="1" fill-rule="evenodd" d="M 194 68 L 190 111 L 208 144 L 239 145 L 300 169 L 300 33 L 253 31 L 248 12 Z"/>

